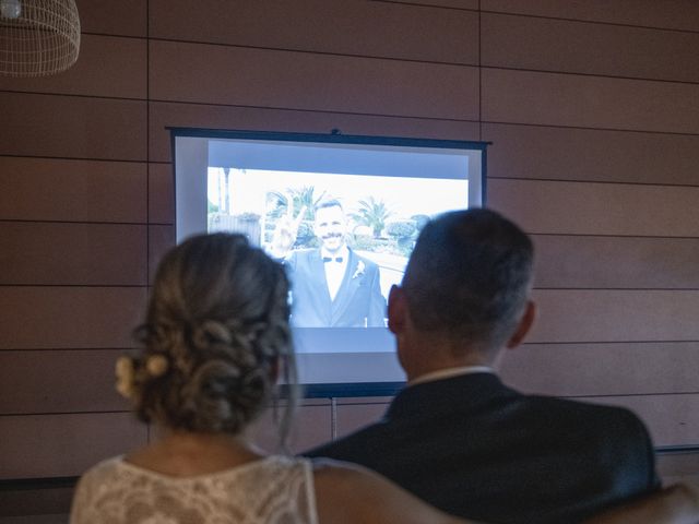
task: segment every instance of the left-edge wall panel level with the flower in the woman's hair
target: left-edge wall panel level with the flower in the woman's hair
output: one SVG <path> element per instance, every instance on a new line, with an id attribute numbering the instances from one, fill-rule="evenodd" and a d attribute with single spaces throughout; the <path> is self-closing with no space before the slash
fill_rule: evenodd
<path id="1" fill-rule="evenodd" d="M 115 390 L 121 349 L 0 352 L 0 415 L 129 410 Z"/>

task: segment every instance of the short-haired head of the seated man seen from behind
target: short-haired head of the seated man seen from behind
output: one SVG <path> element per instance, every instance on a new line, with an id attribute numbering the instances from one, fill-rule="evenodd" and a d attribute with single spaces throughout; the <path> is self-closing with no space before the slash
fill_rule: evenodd
<path id="1" fill-rule="evenodd" d="M 493 211 L 455 211 L 429 222 L 402 287 L 389 299 L 399 353 L 401 342 L 412 342 L 405 337 L 417 335 L 446 343 L 457 360 L 475 356 L 465 361 L 490 364 L 499 349 L 517 345 L 533 321 L 532 270 L 531 240 Z M 405 358 L 401 355 L 404 367 Z"/>

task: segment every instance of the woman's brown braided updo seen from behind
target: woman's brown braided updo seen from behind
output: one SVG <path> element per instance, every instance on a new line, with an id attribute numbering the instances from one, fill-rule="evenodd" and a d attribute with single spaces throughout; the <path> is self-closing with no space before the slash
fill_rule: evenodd
<path id="1" fill-rule="evenodd" d="M 201 235 L 173 248 L 134 331 L 143 348 L 127 365 L 139 418 L 241 431 L 271 400 L 280 364 L 295 372 L 288 315 L 282 265 L 246 237 Z"/>

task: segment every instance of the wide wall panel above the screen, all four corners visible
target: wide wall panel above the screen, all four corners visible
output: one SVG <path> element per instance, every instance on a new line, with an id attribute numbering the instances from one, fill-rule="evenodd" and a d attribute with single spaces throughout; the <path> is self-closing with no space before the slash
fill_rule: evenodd
<path id="1" fill-rule="evenodd" d="M 171 41 L 151 41 L 150 63 L 158 100 L 478 118 L 478 73 L 471 67 Z"/>

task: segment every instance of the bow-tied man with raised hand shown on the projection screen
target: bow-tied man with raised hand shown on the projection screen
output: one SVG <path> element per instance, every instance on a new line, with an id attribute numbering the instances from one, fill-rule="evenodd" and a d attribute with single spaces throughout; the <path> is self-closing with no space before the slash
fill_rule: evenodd
<path id="1" fill-rule="evenodd" d="M 289 206 L 291 207 L 291 206 Z M 347 219 L 337 200 L 316 207 L 320 248 L 291 250 L 306 212 L 282 217 L 271 254 L 284 260 L 292 282 L 292 324 L 298 327 L 384 327 L 379 266 L 346 243 Z"/>

